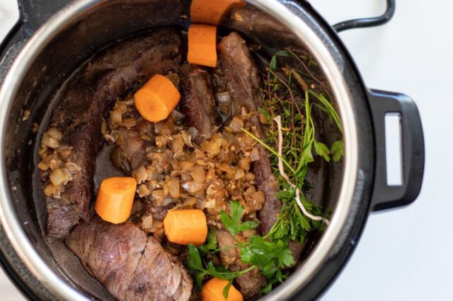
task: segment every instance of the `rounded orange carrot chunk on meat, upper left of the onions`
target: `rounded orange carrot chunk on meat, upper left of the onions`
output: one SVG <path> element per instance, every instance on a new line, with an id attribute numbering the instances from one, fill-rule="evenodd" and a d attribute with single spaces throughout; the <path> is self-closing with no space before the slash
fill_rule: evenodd
<path id="1" fill-rule="evenodd" d="M 151 77 L 134 94 L 135 107 L 149 122 L 160 122 L 178 105 L 181 95 L 173 83 L 160 74 Z"/>

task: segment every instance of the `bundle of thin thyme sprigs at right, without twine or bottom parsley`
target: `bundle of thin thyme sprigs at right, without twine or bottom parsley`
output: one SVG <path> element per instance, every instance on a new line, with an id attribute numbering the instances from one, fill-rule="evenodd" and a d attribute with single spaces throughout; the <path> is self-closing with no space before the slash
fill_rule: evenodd
<path id="1" fill-rule="evenodd" d="M 278 66 L 280 58 L 284 59 L 285 67 L 282 67 L 281 70 L 286 78 L 282 78 L 277 73 L 280 68 Z M 302 69 L 289 68 L 288 59 L 296 59 Z M 285 129 L 280 159 L 285 165 L 285 169 L 288 170 L 290 182 L 299 187 L 299 191 L 301 191 L 302 205 L 312 215 L 328 218 L 328 213 L 324 213 L 321 206 L 308 201 L 304 195 L 304 191 L 311 187 L 306 181 L 306 174 L 309 171 L 310 163 L 314 162 L 314 154 L 320 155 L 327 162 L 330 162 L 331 159 L 338 162 L 343 156 L 342 140 L 336 141 L 330 148 L 323 141 L 319 141 L 313 119 L 314 110 L 325 114 L 327 120 L 336 126 L 339 134 L 343 133 L 343 127 L 335 107 L 328 100 L 331 97 L 327 83 L 319 79 L 321 76 L 308 66 L 316 66 L 316 62 L 306 53 L 295 49 L 285 49 L 275 53 L 268 69 L 268 78 L 265 81 L 264 107 L 260 110 L 271 126 L 265 134 L 264 140 L 244 131 L 273 154 L 271 159 L 274 175 L 280 182 L 277 197 L 282 201 L 282 209 L 275 225 L 265 237 L 270 242 L 294 240 L 302 243 L 310 232 L 323 230 L 325 227 L 322 222 L 304 216 L 295 201 L 295 189 L 280 175 L 277 168 L 279 154 L 276 151 L 278 131 L 273 119 L 280 116 L 282 128 Z M 264 114 L 263 111 L 267 114 Z"/>

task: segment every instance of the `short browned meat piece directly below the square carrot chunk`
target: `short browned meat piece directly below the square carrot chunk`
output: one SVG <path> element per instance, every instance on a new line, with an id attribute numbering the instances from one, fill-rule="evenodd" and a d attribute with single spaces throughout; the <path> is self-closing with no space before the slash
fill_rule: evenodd
<path id="1" fill-rule="evenodd" d="M 185 115 L 186 124 L 198 131 L 194 141 L 201 143 L 212 137 L 214 127 L 217 126 L 212 78 L 205 69 L 193 65 L 183 66 L 180 78 L 182 82 L 180 110 Z"/>

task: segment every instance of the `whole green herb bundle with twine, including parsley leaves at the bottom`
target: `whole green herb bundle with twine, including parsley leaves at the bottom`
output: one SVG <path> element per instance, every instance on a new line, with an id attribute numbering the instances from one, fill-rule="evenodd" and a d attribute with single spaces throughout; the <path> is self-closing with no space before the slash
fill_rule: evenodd
<path id="1" fill-rule="evenodd" d="M 290 60 L 297 68 L 290 68 L 285 64 Z M 279 69 L 280 61 L 284 65 Z M 268 278 L 268 285 L 262 291 L 268 293 L 273 285 L 289 276 L 288 268 L 295 264 L 289 242 L 303 244 L 311 232 L 322 231 L 326 227 L 329 214 L 318 204 L 306 199 L 304 194 L 311 188 L 306 175 L 309 164 L 314 162 L 314 153 L 327 162 L 331 159 L 338 162 L 343 156 L 343 141 L 339 139 L 330 148 L 319 141 L 313 119 L 314 110 L 323 114 L 340 134 L 343 129 L 338 113 L 330 102 L 328 85 L 319 79 L 322 76 L 312 71 L 313 68 L 310 67 L 313 66 L 316 67 L 316 62 L 296 49 L 282 50 L 271 59 L 265 74 L 263 107 L 259 109 L 262 122 L 269 125 L 265 138 L 261 140 L 246 129 L 243 131 L 272 154 L 271 166 L 280 183 L 277 198 L 282 201 L 282 208 L 267 235 L 254 235 L 246 242 L 234 245 L 240 250 L 241 261 L 250 265 L 243 271 L 233 272 L 224 266 L 214 265 L 213 262 L 218 261 L 217 255 L 222 249 L 217 247 L 213 229 L 205 244 L 200 247 L 190 245 L 188 267 L 198 288 L 201 288 L 205 276 L 222 278 L 229 281 L 224 289 L 226 297 L 234 278 L 258 268 Z M 232 201 L 230 213 L 221 213 L 222 223 L 233 237 L 243 230 L 258 227 L 256 221 L 241 222 L 243 210 L 238 202 Z"/>

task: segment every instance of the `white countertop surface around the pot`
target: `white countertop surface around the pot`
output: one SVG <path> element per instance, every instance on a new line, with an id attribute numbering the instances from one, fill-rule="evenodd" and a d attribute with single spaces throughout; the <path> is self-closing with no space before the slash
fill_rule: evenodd
<path id="1" fill-rule="evenodd" d="M 384 0 L 312 0 L 330 23 L 375 16 Z M 0 0 L 0 40 L 17 18 Z M 453 169 L 453 3 L 396 0 L 396 15 L 379 28 L 341 33 L 370 88 L 410 95 L 425 131 L 423 189 L 407 208 L 369 217 L 362 239 L 323 300 L 453 300 L 453 236 L 449 190 Z M 23 300 L 0 272 L 0 299 Z"/>

